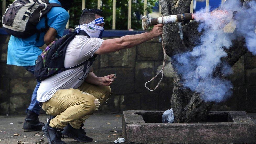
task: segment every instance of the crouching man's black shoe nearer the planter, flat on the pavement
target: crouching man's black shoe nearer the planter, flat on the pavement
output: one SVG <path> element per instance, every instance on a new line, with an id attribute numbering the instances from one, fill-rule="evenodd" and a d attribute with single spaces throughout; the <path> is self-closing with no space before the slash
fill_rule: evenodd
<path id="1" fill-rule="evenodd" d="M 93 139 L 86 136 L 83 126 L 84 124 L 81 125 L 80 129 L 75 129 L 70 124 L 68 124 L 64 127 L 64 130 L 61 133 L 79 142 L 92 142 Z"/>

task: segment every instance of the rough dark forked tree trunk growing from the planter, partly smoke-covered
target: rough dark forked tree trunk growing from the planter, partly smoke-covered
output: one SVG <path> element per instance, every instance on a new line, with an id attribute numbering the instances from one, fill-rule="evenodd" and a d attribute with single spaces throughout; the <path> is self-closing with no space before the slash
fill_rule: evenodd
<path id="1" fill-rule="evenodd" d="M 161 12 L 163 16 L 187 13 L 190 8 L 191 0 L 159 0 L 161 5 Z M 243 2 L 243 1 L 242 1 Z M 247 2 L 245 0 L 245 2 Z M 244 3 L 245 3 L 244 2 Z M 207 115 L 213 105 L 213 102 L 204 102 L 201 96 L 206 91 L 202 84 L 205 79 L 201 79 L 196 83 L 196 91 L 191 91 L 189 88 L 183 86 L 184 81 L 177 72 L 177 60 L 173 57 L 177 54 L 189 52 L 193 47 L 199 44 L 200 35 L 197 28 L 199 23 L 191 21 L 182 27 L 184 35 L 184 43 L 180 40 L 178 33 L 179 28 L 177 23 L 166 24 L 164 26 L 163 42 L 167 50 L 167 55 L 171 57 L 171 63 L 174 69 L 174 88 L 171 98 L 171 106 L 174 111 L 175 122 L 202 122 L 205 121 Z M 234 31 L 235 33 L 236 31 Z M 244 38 L 237 38 L 233 41 L 233 46 L 225 49 L 226 57 L 221 59 L 221 63 L 216 67 L 214 75 L 217 78 L 225 79 L 220 72 L 223 63 L 228 63 L 231 67 L 239 58 L 244 55 L 246 48 L 244 47 Z M 195 67 L 196 69 L 196 67 Z M 212 87 L 215 87 L 212 83 Z"/>

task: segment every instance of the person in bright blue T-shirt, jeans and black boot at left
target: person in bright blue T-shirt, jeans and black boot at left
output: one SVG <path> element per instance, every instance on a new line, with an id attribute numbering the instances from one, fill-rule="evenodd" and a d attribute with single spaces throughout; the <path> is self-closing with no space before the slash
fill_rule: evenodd
<path id="1" fill-rule="evenodd" d="M 49 45 L 55 38 L 60 38 L 63 35 L 65 26 L 69 19 L 68 10 L 71 8 L 73 3 L 72 0 L 49 0 L 50 3 L 57 3 L 62 7 L 52 7 L 52 9 L 47 12 L 48 26 L 49 29 L 46 32 L 41 32 L 39 37 L 38 33 L 28 37 L 28 38 L 17 38 L 15 36 L 10 37 L 8 43 L 8 53 L 7 53 L 7 64 L 22 66 L 27 71 L 34 75 L 35 60 L 38 55 L 42 53 L 39 47 L 44 44 Z M 43 17 L 36 28 L 38 30 L 46 28 L 45 17 Z M 41 130 L 44 123 L 40 122 L 38 119 L 39 111 L 41 107 L 36 100 L 36 93 L 39 88 L 41 81 L 37 80 L 36 87 L 32 94 L 31 103 L 26 109 L 26 118 L 23 125 L 24 131 L 37 131 Z"/>

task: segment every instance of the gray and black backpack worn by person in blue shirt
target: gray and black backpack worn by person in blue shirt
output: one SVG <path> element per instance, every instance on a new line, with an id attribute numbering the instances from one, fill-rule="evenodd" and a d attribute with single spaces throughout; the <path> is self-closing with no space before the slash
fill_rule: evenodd
<path id="1" fill-rule="evenodd" d="M 53 6 L 61 7 L 57 3 L 49 3 L 48 0 L 15 0 L 3 15 L 3 28 L 18 38 L 28 38 L 38 33 L 38 40 L 40 33 L 49 29 L 46 13 Z M 42 17 L 45 17 L 45 28 L 38 30 L 36 25 Z"/>

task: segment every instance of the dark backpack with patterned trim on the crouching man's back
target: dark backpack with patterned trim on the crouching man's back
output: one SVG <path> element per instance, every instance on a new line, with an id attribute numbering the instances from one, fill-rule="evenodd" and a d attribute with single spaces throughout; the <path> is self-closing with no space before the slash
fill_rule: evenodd
<path id="1" fill-rule="evenodd" d="M 79 33 L 76 33 L 75 31 L 75 29 L 69 29 L 68 34 L 56 41 L 53 41 L 49 46 L 45 48 L 42 54 L 37 57 L 34 72 L 36 79 L 42 81 L 48 77 L 54 76 L 55 74 L 68 69 L 77 68 L 82 65 L 84 65 L 84 75 L 88 74 L 86 73 L 87 65 L 88 63 L 92 65 L 97 55 L 94 55 L 92 58 L 89 58 L 83 63 L 80 63 L 79 65 L 73 66 L 71 68 L 64 67 L 66 49 L 71 40 L 73 40 L 76 35 L 85 35 L 90 38 L 90 36 L 83 30 L 80 30 Z"/>

